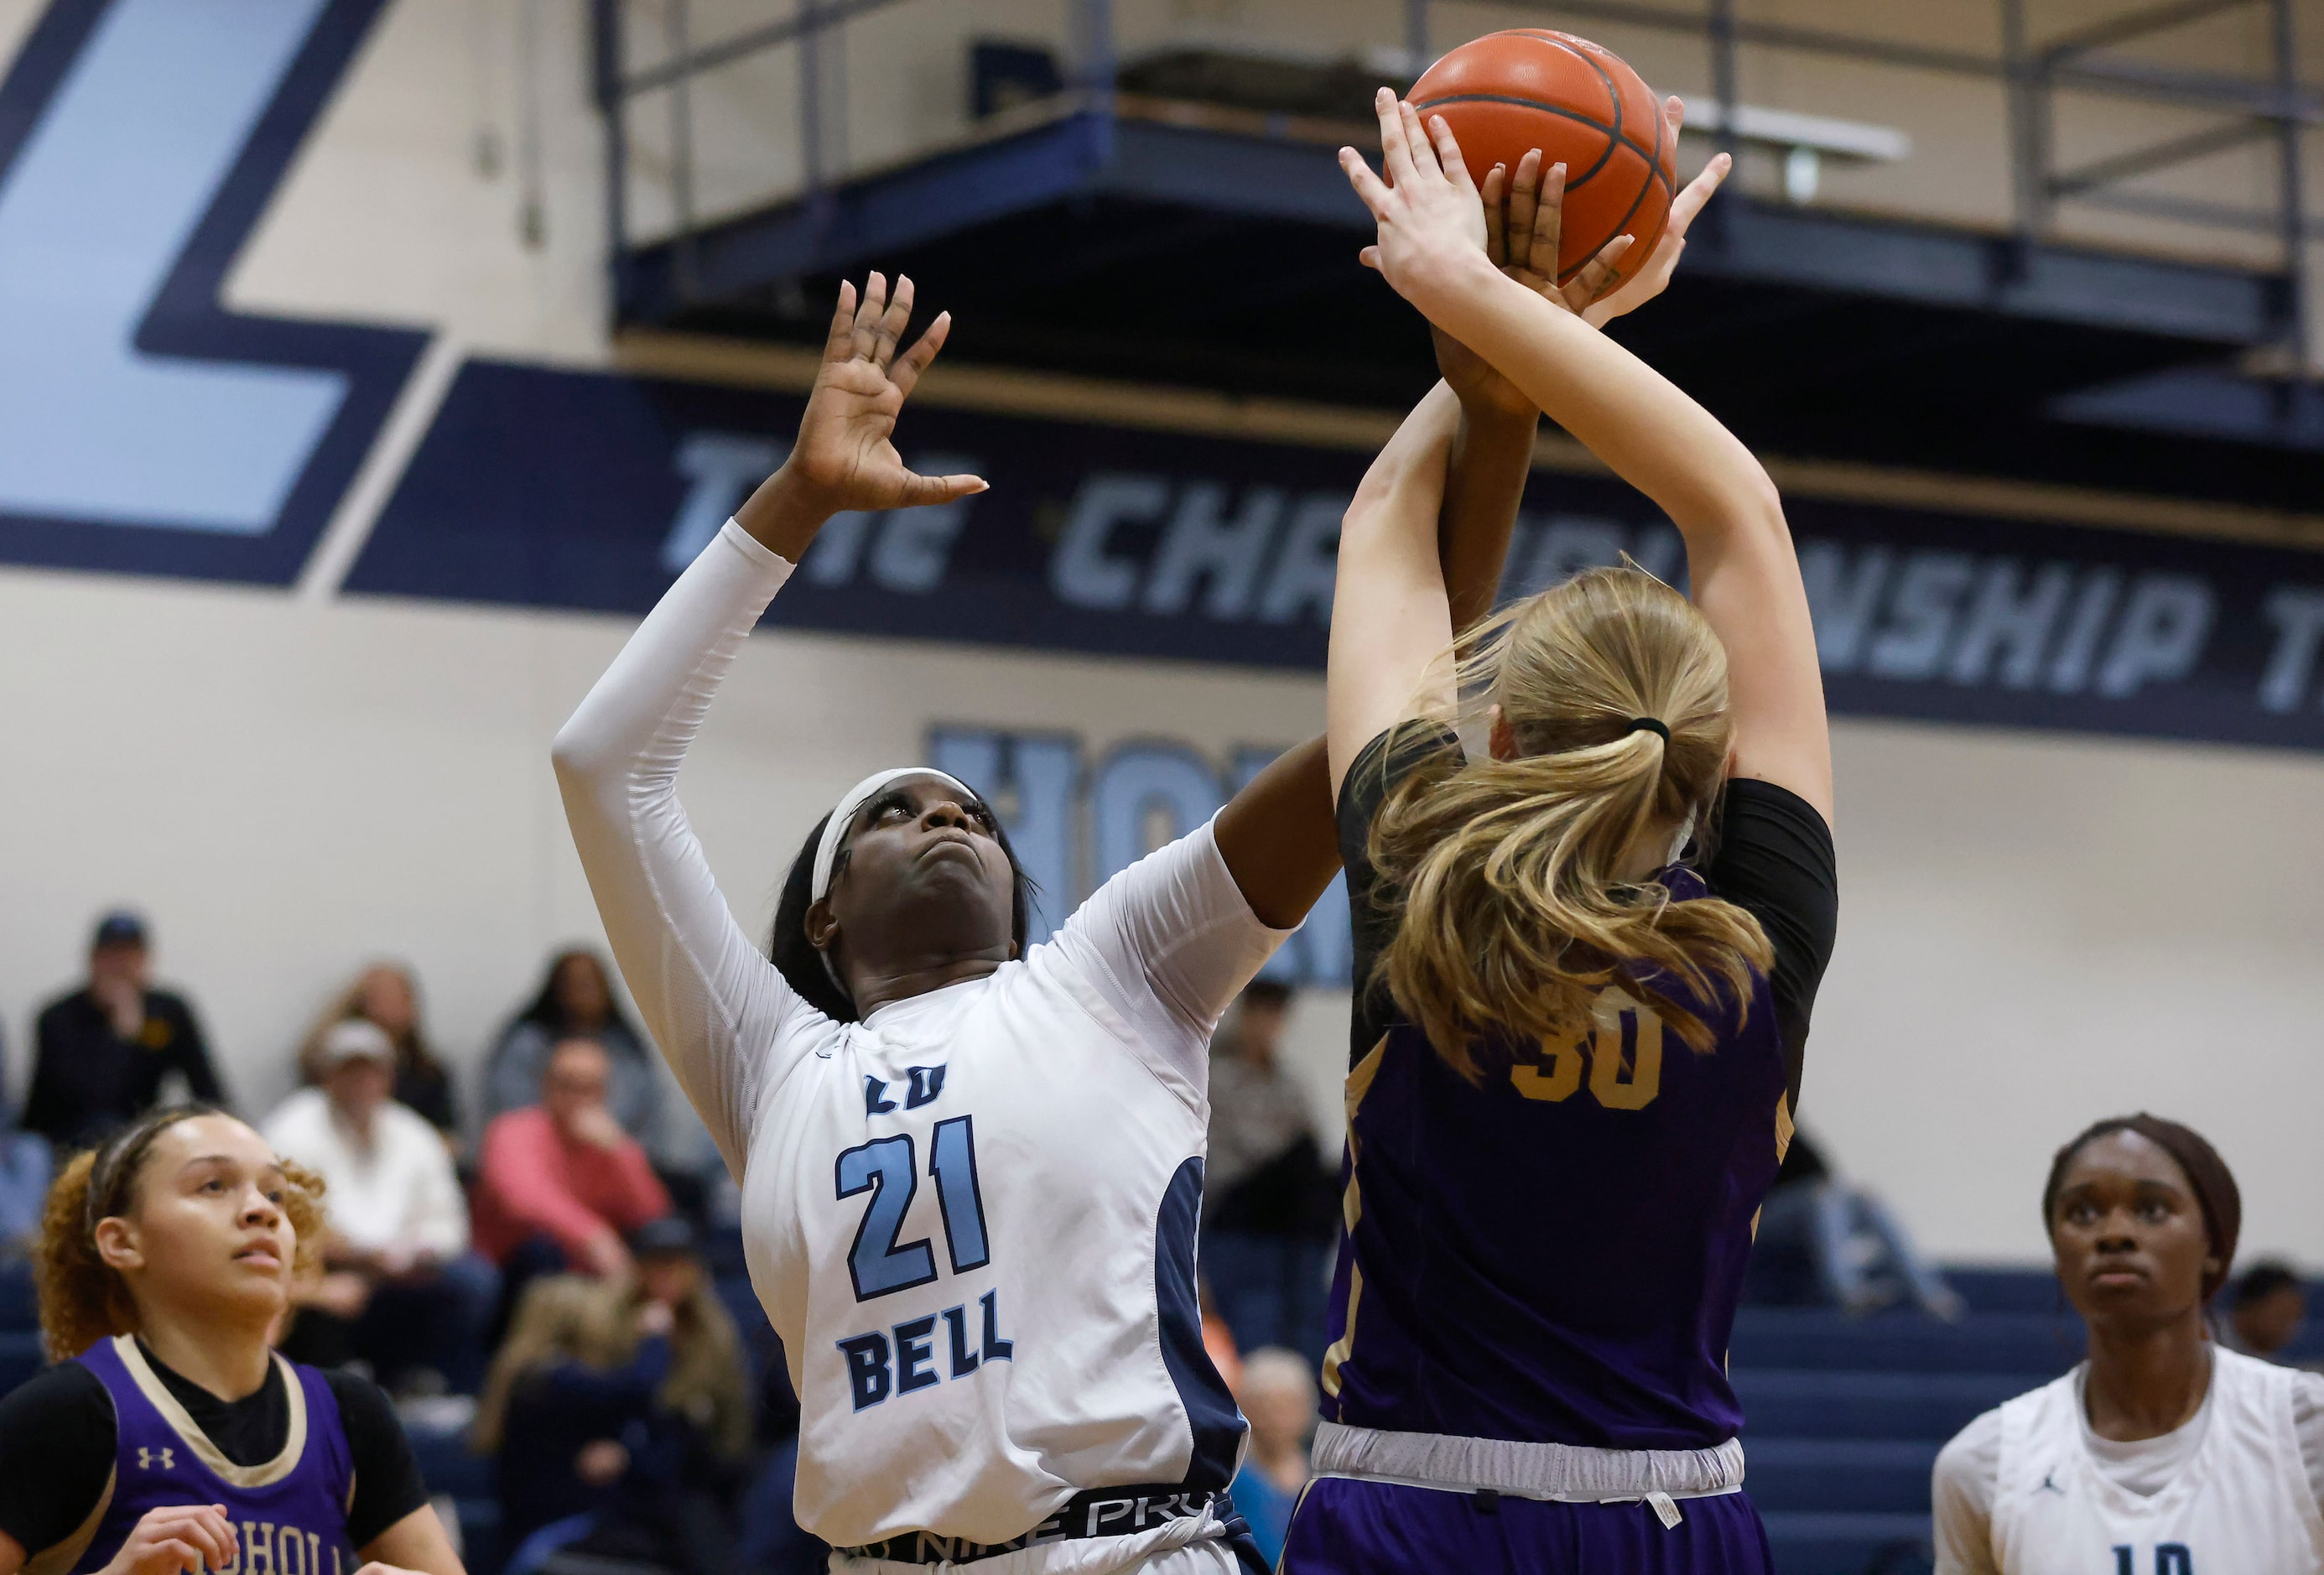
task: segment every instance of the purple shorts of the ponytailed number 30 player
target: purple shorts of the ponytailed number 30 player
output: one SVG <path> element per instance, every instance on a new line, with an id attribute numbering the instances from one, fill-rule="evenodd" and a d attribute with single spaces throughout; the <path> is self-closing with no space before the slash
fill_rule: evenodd
<path id="1" fill-rule="evenodd" d="M 1773 1575 L 1743 1494 L 1680 1498 L 1664 1529 L 1645 1503 L 1545 1503 L 1318 1477 L 1292 1510 L 1281 1575 Z"/>

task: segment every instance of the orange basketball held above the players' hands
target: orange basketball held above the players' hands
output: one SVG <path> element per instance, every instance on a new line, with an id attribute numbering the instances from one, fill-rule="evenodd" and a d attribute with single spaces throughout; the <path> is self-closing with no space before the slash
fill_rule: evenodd
<path id="1" fill-rule="evenodd" d="M 1571 33 L 1508 28 L 1422 72 L 1411 102 L 1422 125 L 1434 114 L 1446 118 L 1478 186 L 1494 165 L 1515 177 L 1529 149 L 1541 149 L 1543 170 L 1564 163 L 1559 281 L 1618 235 L 1636 239 L 1615 281 L 1655 256 L 1678 190 L 1678 149 L 1662 100 L 1620 56 Z"/>

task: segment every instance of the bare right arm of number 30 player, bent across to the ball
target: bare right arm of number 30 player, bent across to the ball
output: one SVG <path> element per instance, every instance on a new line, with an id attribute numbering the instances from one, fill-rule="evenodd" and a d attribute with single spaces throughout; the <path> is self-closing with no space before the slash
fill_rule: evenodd
<path id="1" fill-rule="evenodd" d="M 1694 602 L 1727 646 L 1734 771 L 1789 788 L 1829 820 L 1815 632 L 1766 472 L 1662 374 L 1492 265 L 1476 188 L 1441 118 L 1422 135 L 1411 105 L 1383 88 L 1380 146 L 1392 186 L 1341 151 L 1380 223 L 1364 260 L 1671 516 L 1687 541 Z"/>

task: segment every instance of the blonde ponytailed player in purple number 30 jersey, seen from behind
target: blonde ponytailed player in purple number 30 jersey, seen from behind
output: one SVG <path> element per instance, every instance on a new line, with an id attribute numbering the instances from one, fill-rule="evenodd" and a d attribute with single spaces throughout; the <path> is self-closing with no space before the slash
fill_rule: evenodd
<path id="1" fill-rule="evenodd" d="M 1497 267 L 1506 230 L 1490 251 L 1443 121 L 1383 93 L 1380 142 L 1385 181 L 1341 156 L 1378 218 L 1364 260 L 1662 504 L 1694 599 L 1592 569 L 1455 662 L 1446 388 L 1348 511 L 1327 683 L 1360 980 L 1346 1231 L 1283 1570 L 1766 1570 L 1724 1347 L 1836 913 L 1799 562 L 1717 420 Z"/>

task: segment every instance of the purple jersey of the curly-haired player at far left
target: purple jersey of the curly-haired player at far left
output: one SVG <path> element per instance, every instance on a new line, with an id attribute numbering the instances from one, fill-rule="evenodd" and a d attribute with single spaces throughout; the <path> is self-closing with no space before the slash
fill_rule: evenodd
<path id="1" fill-rule="evenodd" d="M 356 1466 L 339 1401 L 323 1373 L 274 1361 L 288 1387 L 290 1436 L 272 1461 L 235 1466 L 163 1387 L 135 1338 L 98 1340 L 79 1354 L 114 1401 L 119 1445 L 98 1533 L 74 1575 L 112 1563 L 149 1510 L 191 1503 L 223 1503 L 239 1538 L 235 1563 L 209 1575 L 356 1575 L 363 1559 L 346 1542 Z"/>

